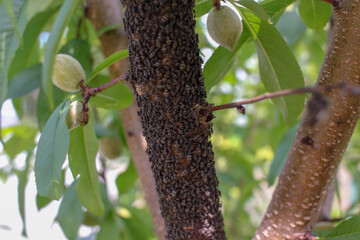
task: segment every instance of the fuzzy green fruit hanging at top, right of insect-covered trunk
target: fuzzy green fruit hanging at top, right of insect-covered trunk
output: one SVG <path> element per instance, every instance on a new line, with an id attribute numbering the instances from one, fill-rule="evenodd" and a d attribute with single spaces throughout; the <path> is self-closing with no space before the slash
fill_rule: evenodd
<path id="1" fill-rule="evenodd" d="M 218 44 L 230 51 L 235 48 L 242 33 L 242 23 L 231 8 L 211 9 L 206 24 L 211 38 Z"/>

